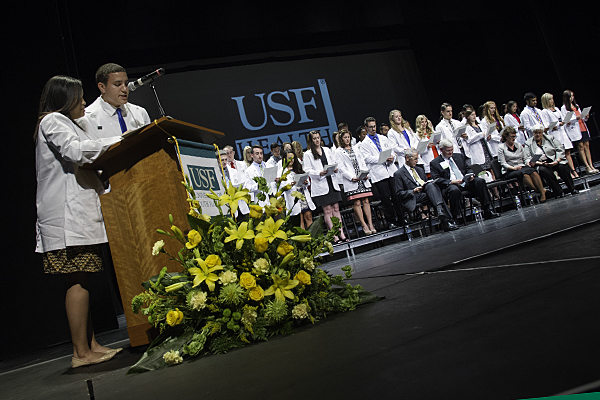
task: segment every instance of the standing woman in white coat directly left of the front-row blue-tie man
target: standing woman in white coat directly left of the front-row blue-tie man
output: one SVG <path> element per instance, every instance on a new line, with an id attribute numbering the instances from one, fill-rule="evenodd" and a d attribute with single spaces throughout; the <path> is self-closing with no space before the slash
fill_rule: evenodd
<path id="1" fill-rule="evenodd" d="M 360 151 L 352 148 L 352 135 L 347 130 L 340 131 L 340 146 L 337 149 L 338 168 L 342 174 L 342 183 L 348 200 L 353 201 L 352 208 L 354 216 L 358 218 L 365 235 L 377 233 L 373 227 L 373 218 L 371 217 L 371 204 L 369 197 L 371 193 L 371 182 L 369 177 L 365 176 L 359 179 L 361 171 L 367 171 L 365 158 Z M 362 206 L 362 207 L 361 207 Z"/>

